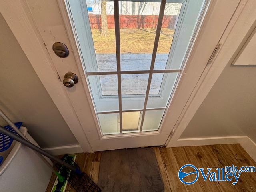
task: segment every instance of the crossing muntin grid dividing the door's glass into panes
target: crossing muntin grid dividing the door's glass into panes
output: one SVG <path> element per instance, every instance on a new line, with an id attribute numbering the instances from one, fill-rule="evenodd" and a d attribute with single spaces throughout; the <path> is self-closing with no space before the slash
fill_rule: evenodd
<path id="1" fill-rule="evenodd" d="M 151 58 L 151 64 L 150 64 L 150 70 L 134 70 L 134 71 L 121 71 L 121 62 L 120 62 L 120 28 L 119 28 L 119 8 L 118 8 L 118 0 L 114 0 L 114 19 L 115 19 L 115 38 L 116 38 L 116 62 L 117 62 L 117 70 L 116 71 L 94 71 L 94 72 L 86 72 L 86 75 L 117 75 L 118 76 L 118 95 L 116 96 L 103 96 L 103 99 L 106 98 L 117 98 L 118 96 L 118 102 L 119 102 L 119 110 L 116 111 L 103 111 L 103 112 L 96 112 L 96 114 L 111 114 L 111 113 L 119 113 L 119 120 L 120 120 L 120 134 L 122 134 L 122 112 L 136 112 L 141 111 L 142 117 L 140 122 L 140 127 L 138 127 L 139 132 L 142 132 L 142 126 L 144 121 L 145 112 L 148 110 L 166 110 L 166 107 L 164 108 L 148 108 L 146 109 L 146 104 L 148 97 L 150 95 L 159 96 L 160 94 L 149 94 L 150 91 L 150 85 L 152 80 L 152 74 L 153 73 L 176 73 L 181 72 L 181 69 L 163 69 L 163 70 L 154 70 L 154 64 L 157 54 L 157 48 L 158 48 L 158 41 L 160 37 L 160 30 L 162 28 L 162 19 L 164 16 L 164 9 L 166 5 L 166 0 L 161 1 L 160 5 L 160 13 L 158 16 L 158 24 L 156 28 L 156 35 L 154 40 L 154 48 L 152 52 L 152 58 Z M 170 53 L 169 53 L 170 54 Z M 121 93 L 121 74 L 149 74 L 148 77 L 148 84 L 147 84 L 147 90 L 146 90 L 146 97 L 144 100 L 144 108 L 143 109 L 134 109 L 134 110 L 122 110 L 122 93 Z M 163 77 L 164 79 L 164 77 Z M 178 77 L 177 77 L 178 79 Z M 163 80 L 162 80 L 163 81 Z M 162 88 L 162 84 L 160 89 Z M 173 90 L 172 90 L 173 91 Z M 102 92 L 101 92 L 102 95 Z M 172 93 L 170 94 L 172 95 Z M 139 96 L 139 95 L 128 95 L 128 96 Z M 161 120 L 162 121 L 162 120 Z M 158 127 L 159 128 L 159 127 Z M 107 134 L 108 135 L 108 134 Z"/>

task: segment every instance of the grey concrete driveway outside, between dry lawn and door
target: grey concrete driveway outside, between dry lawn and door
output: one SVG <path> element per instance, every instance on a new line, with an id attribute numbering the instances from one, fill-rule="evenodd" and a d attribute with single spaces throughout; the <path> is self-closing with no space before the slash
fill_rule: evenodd
<path id="1" fill-rule="evenodd" d="M 152 54 L 121 54 L 121 70 L 149 70 Z M 116 54 L 96 54 L 99 71 L 116 71 Z M 157 54 L 155 70 L 165 69 L 168 54 Z M 153 74 L 150 94 L 158 94 L 163 74 Z M 117 76 L 101 75 L 100 84 L 103 95 L 117 95 Z M 121 75 L 122 95 L 146 94 L 148 74 Z"/>

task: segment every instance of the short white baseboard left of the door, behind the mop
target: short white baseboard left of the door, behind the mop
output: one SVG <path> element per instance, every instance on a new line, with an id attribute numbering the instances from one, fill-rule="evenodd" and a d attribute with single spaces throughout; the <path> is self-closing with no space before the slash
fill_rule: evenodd
<path id="1" fill-rule="evenodd" d="M 49 152 L 52 155 L 63 155 L 63 154 L 72 154 L 72 153 L 82 153 L 83 150 L 80 145 L 68 145 L 52 148 L 44 148 L 46 152 Z"/>

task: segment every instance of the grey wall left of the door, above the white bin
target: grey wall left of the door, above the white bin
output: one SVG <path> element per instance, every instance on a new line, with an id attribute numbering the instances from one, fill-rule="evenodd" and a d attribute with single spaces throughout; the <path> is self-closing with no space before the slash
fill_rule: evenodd
<path id="1" fill-rule="evenodd" d="M 1 14 L 0 29 L 0 108 L 42 148 L 78 144 Z"/>

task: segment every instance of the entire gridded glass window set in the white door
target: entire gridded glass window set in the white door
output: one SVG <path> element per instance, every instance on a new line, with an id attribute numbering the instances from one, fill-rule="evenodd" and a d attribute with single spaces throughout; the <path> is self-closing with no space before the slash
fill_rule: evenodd
<path id="1" fill-rule="evenodd" d="M 102 135 L 158 131 L 204 0 L 68 0 Z"/>

